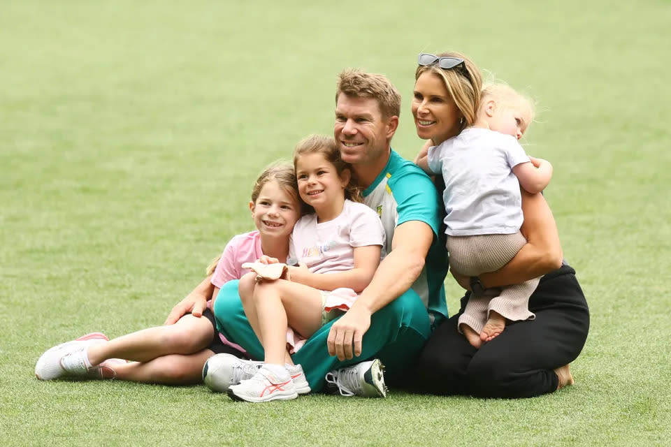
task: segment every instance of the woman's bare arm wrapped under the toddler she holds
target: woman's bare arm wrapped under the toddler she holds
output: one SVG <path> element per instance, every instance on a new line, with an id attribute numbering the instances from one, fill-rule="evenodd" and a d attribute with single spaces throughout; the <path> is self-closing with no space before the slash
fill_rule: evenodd
<path id="1" fill-rule="evenodd" d="M 520 230 L 526 244 L 503 268 L 479 275 L 484 287 L 519 284 L 561 267 L 563 252 L 550 207 L 542 194 L 524 189 L 521 193 L 524 223 Z"/>

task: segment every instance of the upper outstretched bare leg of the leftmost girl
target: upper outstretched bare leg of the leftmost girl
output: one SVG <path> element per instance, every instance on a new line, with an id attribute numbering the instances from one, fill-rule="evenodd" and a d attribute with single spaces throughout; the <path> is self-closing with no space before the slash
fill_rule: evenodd
<path id="1" fill-rule="evenodd" d="M 149 362 L 168 354 L 198 353 L 210 344 L 214 335 L 208 318 L 187 314 L 173 325 L 138 330 L 107 343 L 89 346 L 88 357 L 92 366 L 108 358 Z"/>

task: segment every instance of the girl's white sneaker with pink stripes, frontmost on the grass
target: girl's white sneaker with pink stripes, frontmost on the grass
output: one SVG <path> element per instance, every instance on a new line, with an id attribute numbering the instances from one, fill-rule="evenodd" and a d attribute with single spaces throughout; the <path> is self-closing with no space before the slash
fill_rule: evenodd
<path id="1" fill-rule="evenodd" d="M 270 402 L 272 400 L 292 400 L 298 397 L 294 380 L 287 374 L 280 379 L 267 367 L 261 367 L 251 379 L 243 380 L 229 388 L 233 400 L 246 402 Z"/>

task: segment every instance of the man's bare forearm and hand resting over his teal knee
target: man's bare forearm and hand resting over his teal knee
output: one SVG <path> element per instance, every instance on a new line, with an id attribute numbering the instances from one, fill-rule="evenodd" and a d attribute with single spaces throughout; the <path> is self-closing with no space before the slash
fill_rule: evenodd
<path id="1" fill-rule="evenodd" d="M 427 223 L 407 221 L 396 227 L 391 253 L 382 260 L 352 308 L 331 326 L 327 340 L 331 356 L 345 360 L 361 355 L 361 340 L 370 328 L 370 316 L 412 286 L 424 268 L 431 242 L 433 230 Z"/>

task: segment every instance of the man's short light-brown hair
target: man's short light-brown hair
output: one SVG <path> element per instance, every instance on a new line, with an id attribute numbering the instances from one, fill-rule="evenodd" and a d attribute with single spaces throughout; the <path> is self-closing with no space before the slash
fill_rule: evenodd
<path id="1" fill-rule="evenodd" d="M 335 102 L 340 94 L 351 98 L 373 98 L 384 119 L 401 115 L 401 94 L 384 75 L 348 68 L 338 75 Z"/>

